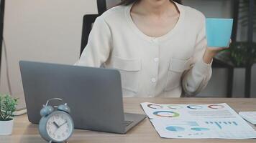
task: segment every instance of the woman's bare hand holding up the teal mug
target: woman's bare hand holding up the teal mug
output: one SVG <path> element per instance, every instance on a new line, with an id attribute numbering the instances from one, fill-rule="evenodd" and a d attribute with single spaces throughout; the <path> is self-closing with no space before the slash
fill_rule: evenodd
<path id="1" fill-rule="evenodd" d="M 229 45 L 232 43 L 232 41 L 230 40 Z M 203 60 L 206 64 L 210 64 L 211 61 L 214 59 L 214 56 L 216 56 L 216 54 L 219 53 L 219 51 L 222 51 L 224 49 L 228 49 L 228 47 L 207 47 L 206 51 L 204 52 L 204 57 Z"/>

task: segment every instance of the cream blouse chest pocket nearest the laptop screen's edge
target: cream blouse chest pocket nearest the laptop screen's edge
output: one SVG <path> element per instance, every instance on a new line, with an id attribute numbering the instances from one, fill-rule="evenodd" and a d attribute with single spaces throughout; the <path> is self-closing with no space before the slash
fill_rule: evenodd
<path id="1" fill-rule="evenodd" d="M 118 69 L 121 74 L 124 96 L 132 97 L 137 93 L 141 66 L 141 59 L 114 57 L 114 68 Z"/>

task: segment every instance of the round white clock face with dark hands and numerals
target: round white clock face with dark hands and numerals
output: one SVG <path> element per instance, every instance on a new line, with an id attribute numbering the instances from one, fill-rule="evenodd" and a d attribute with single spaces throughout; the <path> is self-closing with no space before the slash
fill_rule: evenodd
<path id="1" fill-rule="evenodd" d="M 55 112 L 50 114 L 46 123 L 48 136 L 57 141 L 67 140 L 73 132 L 73 122 L 68 114 Z"/>

